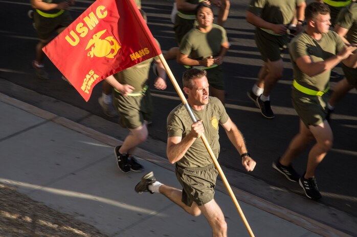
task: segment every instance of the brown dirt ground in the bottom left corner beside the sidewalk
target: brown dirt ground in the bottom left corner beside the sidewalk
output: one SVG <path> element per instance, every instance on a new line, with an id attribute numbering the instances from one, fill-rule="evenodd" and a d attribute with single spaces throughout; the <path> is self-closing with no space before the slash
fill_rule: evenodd
<path id="1" fill-rule="evenodd" d="M 108 237 L 0 183 L 0 237 Z"/>

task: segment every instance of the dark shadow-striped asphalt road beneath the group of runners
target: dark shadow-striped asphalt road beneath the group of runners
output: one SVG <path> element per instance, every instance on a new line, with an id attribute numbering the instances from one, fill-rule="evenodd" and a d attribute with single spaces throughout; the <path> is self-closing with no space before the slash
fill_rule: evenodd
<path id="1" fill-rule="evenodd" d="M 149 28 L 153 36 L 160 41 L 162 50 L 165 52 L 165 50 L 175 46 L 172 23 L 169 18 L 173 1 L 142 1 L 142 8 L 148 14 Z M 76 6 L 71 10 L 72 16 L 74 18 L 79 16 L 92 2 L 77 1 Z M 285 151 L 289 141 L 298 132 L 299 118 L 290 99 L 292 67 L 288 55 L 285 54 L 284 57 L 284 76 L 271 94 L 275 119 L 263 118 L 255 104 L 246 95 L 246 92 L 253 86 L 262 65 L 254 42 L 254 27 L 245 20 L 248 2 L 249 0 L 231 0 L 230 15 L 225 25 L 231 47 L 225 57 L 223 67 L 227 86 L 226 107 L 228 114 L 244 135 L 249 152 L 258 165 L 252 173 L 244 171 L 240 165 L 239 154 L 229 143 L 227 136 L 222 133 L 220 138 L 220 164 L 230 170 L 236 170 L 254 179 L 261 180 L 269 186 L 298 194 L 301 199 L 304 199 L 302 190 L 296 183 L 287 181 L 271 168 L 272 162 Z M 100 116 L 106 121 L 116 122 L 115 118 L 108 118 L 101 112 L 97 102 L 101 94 L 100 84 L 94 88 L 91 99 L 85 102 L 72 86 L 61 80 L 61 74 L 49 60 L 46 60 L 45 64 L 52 76 L 51 79 L 41 81 L 34 75 L 31 61 L 35 55 L 34 48 L 37 43 L 37 36 L 32 28 L 32 21 L 27 17 L 27 11 L 31 9 L 29 1 L 0 0 L 0 9 L 0 22 L 2 22 L 0 25 L 0 80 L 30 89 L 39 95 L 46 95 L 53 98 L 54 101 L 71 104 L 93 115 Z M 174 61 L 168 63 L 176 80 L 181 85 L 180 78 L 184 68 Z M 333 76 L 331 76 L 332 84 L 342 78 L 340 67 L 334 69 L 333 72 Z M 152 73 L 151 78 L 154 78 Z M 168 88 L 165 91 L 154 89 L 151 91 L 155 114 L 154 122 L 149 127 L 149 136 L 153 140 L 166 142 L 166 117 L 180 103 L 180 99 L 170 82 L 168 82 Z M 5 88 L 0 88 L 0 92 L 40 106 L 35 96 L 20 91 L 14 93 Z M 338 104 L 331 122 L 334 133 L 333 148 L 317 171 L 319 189 L 324 196 L 319 202 L 353 217 L 357 216 L 356 101 L 357 93 L 354 90 Z M 54 107 L 56 107 L 56 103 L 53 103 L 52 107 L 47 109 L 51 111 Z M 70 112 L 61 116 L 71 119 Z M 96 121 L 86 122 L 86 125 L 98 128 Z M 107 135 L 119 136 L 111 127 L 100 127 L 98 129 Z M 151 152 L 155 153 L 155 150 Z M 303 152 L 293 163 L 296 170 L 301 174 L 304 172 L 306 159 L 307 152 Z M 259 196 L 259 190 L 252 187 L 247 187 L 246 191 Z M 276 201 L 279 202 L 279 200 Z"/>

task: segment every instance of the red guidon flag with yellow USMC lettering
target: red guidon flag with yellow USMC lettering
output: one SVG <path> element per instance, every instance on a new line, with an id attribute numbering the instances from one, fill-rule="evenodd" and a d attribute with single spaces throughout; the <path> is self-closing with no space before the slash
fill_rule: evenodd
<path id="1" fill-rule="evenodd" d="M 161 54 L 132 0 L 97 0 L 42 50 L 85 101 L 105 77 Z"/>

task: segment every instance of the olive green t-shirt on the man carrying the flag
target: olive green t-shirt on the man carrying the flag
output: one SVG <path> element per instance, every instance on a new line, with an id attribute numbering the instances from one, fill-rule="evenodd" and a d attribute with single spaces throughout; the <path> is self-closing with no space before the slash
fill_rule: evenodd
<path id="1" fill-rule="evenodd" d="M 219 154 L 218 123 L 224 124 L 228 121 L 228 114 L 219 99 L 209 97 L 208 104 L 200 111 L 192 109 L 197 120 L 202 119 L 205 129 L 205 137 L 212 148 L 214 155 Z M 182 137 L 184 139 L 191 131 L 191 117 L 183 103 L 171 111 L 167 117 L 168 137 Z M 211 165 L 212 159 L 202 139 L 198 138 L 187 150 L 184 157 L 177 162 L 181 167 L 205 167 Z"/>

